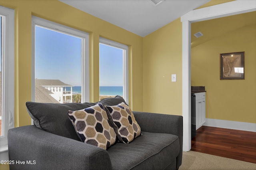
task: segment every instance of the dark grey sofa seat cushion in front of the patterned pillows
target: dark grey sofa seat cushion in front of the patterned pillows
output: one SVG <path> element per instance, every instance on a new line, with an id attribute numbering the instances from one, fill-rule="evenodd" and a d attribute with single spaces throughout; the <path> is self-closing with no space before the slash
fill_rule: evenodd
<path id="1" fill-rule="evenodd" d="M 129 144 L 116 143 L 108 149 L 114 170 L 166 169 L 172 160 L 176 160 L 180 151 L 178 136 L 167 133 L 142 133 L 142 136 Z"/>

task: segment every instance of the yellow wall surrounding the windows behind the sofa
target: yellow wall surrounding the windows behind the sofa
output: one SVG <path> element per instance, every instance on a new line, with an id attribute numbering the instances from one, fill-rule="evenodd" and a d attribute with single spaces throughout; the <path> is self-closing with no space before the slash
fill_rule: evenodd
<path id="1" fill-rule="evenodd" d="M 15 10 L 15 127 L 30 125 L 31 17 L 38 16 L 90 34 L 90 102 L 99 101 L 99 37 L 129 46 L 129 105 L 142 111 L 142 37 L 58 0 L 0 0 Z"/>

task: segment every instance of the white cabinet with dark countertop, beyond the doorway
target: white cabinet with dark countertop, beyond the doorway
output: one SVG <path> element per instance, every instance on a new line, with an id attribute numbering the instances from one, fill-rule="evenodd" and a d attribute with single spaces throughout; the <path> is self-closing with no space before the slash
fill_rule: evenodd
<path id="1" fill-rule="evenodd" d="M 205 92 L 196 95 L 196 130 L 205 123 Z"/>

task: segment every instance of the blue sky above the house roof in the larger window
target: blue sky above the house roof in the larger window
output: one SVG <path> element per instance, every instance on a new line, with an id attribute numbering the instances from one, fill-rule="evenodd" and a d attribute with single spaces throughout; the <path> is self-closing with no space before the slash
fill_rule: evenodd
<path id="1" fill-rule="evenodd" d="M 35 78 L 80 86 L 81 39 L 36 27 L 35 41 Z"/>

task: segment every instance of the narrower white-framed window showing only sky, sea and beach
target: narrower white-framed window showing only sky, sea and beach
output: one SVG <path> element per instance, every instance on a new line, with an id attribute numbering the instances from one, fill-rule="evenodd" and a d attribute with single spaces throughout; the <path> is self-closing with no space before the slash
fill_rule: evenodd
<path id="1" fill-rule="evenodd" d="M 128 46 L 100 38 L 100 99 L 122 96 L 128 102 Z"/>

